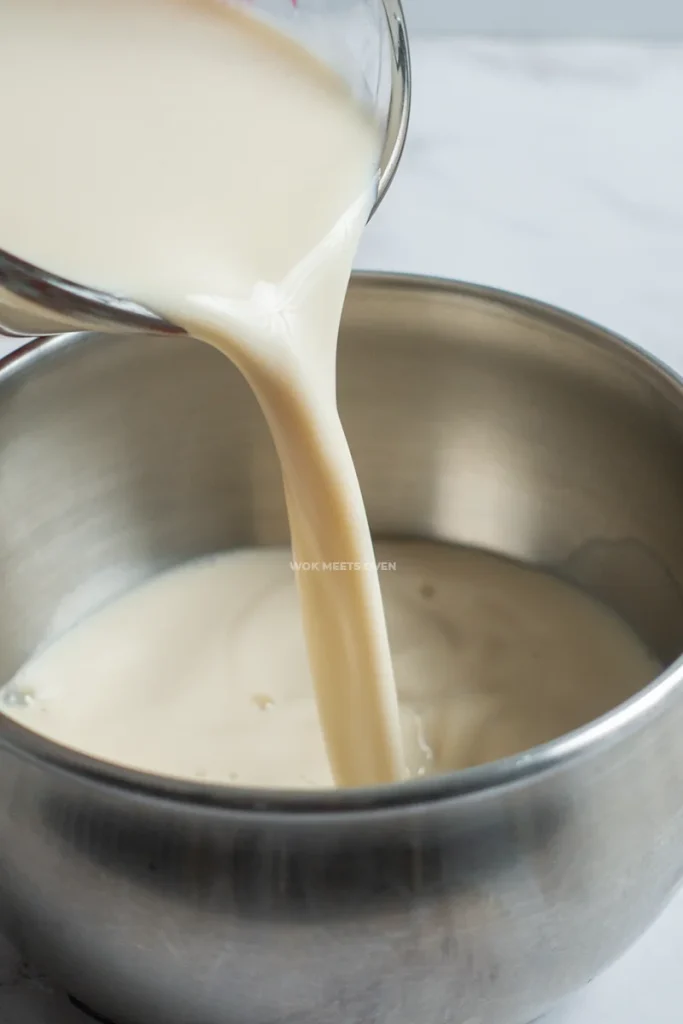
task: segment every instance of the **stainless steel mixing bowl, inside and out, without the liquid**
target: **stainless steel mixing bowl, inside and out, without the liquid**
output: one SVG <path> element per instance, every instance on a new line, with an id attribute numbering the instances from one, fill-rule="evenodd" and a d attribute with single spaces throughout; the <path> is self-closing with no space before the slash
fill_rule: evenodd
<path id="1" fill-rule="evenodd" d="M 683 648 L 683 392 L 638 350 L 482 289 L 360 276 L 340 400 L 377 535 L 459 541 Z M 238 373 L 178 337 L 0 367 L 0 656 L 166 566 L 287 540 Z M 14 936 L 119 1024 L 522 1024 L 656 918 L 683 869 L 680 665 L 528 755 L 384 792 L 105 767 L 0 719 Z"/>

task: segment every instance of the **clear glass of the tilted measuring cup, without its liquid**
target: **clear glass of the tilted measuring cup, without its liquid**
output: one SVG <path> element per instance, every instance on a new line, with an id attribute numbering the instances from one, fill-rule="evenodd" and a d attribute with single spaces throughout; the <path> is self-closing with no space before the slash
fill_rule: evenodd
<path id="1" fill-rule="evenodd" d="M 401 0 L 214 2 L 244 8 L 302 43 L 376 112 L 386 130 L 374 213 L 398 167 L 410 120 L 411 59 Z M 0 334 L 28 338 L 77 330 L 182 333 L 125 296 L 66 281 L 5 252 L 0 230 Z"/>

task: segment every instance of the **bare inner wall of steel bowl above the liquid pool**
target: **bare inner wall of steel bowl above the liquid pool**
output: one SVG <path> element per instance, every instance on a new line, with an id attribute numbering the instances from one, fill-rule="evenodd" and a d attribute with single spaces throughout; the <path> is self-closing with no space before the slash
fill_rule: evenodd
<path id="1" fill-rule="evenodd" d="M 597 328 L 358 278 L 339 396 L 376 536 L 552 568 L 683 649 L 683 394 Z M 0 374 L 0 674 L 139 581 L 288 542 L 258 408 L 177 338 L 55 339 Z"/>

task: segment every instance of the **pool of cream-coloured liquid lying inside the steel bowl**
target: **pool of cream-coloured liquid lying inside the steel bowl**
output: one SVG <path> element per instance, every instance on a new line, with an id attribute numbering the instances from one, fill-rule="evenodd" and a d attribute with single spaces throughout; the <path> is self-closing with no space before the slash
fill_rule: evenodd
<path id="1" fill-rule="evenodd" d="M 598 718 L 657 664 L 610 611 L 551 577 L 432 544 L 380 545 L 409 766 L 435 774 Z M 203 781 L 333 784 L 287 551 L 160 577 L 30 663 L 16 721 L 110 761 Z"/>

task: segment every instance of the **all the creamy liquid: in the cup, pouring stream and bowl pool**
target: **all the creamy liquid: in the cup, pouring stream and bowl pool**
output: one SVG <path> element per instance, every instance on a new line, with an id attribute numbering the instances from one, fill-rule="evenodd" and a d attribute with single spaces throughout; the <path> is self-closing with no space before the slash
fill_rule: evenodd
<path id="1" fill-rule="evenodd" d="M 0 0 L 0 245 L 225 352 L 271 428 L 294 558 L 374 563 L 335 396 L 370 117 L 292 43 L 189 0 Z M 295 574 L 265 552 L 102 611 L 25 668 L 7 712 L 153 772 L 354 786 L 524 750 L 656 673 L 552 580 L 440 547 L 385 555 L 400 709 L 377 573 Z"/>

